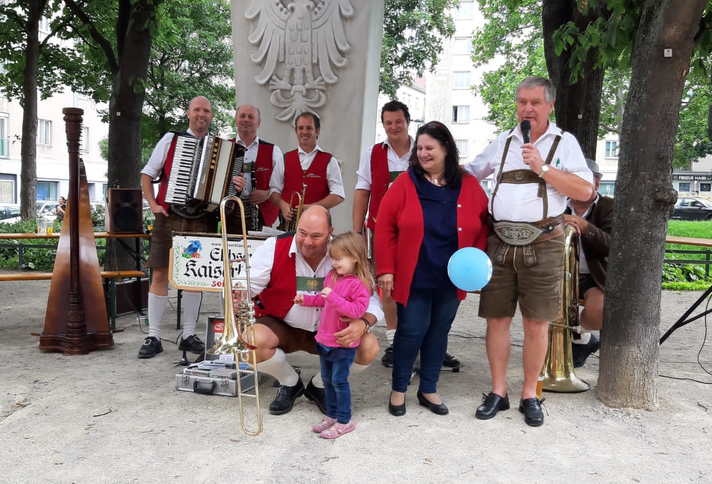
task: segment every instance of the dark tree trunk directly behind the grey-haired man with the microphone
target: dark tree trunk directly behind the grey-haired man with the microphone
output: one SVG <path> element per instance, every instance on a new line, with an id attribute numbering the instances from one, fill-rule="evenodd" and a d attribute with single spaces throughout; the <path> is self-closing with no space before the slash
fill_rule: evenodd
<path id="1" fill-rule="evenodd" d="M 571 50 L 567 49 L 557 56 L 552 33 L 569 21 L 573 21 L 580 31 L 583 31 L 598 15 L 599 12 L 591 11 L 583 16 L 578 11 L 575 0 L 543 0 L 542 4 L 544 57 L 549 77 L 556 87 L 556 124 L 562 130 L 575 135 L 584 154 L 592 159 L 596 158 L 604 75 L 603 69 L 593 69 L 598 51 L 593 48 L 588 51 L 586 62 L 582 66 L 585 76 L 580 76 L 577 82 L 572 84 Z"/>

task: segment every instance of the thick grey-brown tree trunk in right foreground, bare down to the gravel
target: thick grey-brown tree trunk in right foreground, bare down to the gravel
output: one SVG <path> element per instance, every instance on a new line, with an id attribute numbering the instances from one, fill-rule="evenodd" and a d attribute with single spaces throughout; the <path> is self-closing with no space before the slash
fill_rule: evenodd
<path id="1" fill-rule="evenodd" d="M 646 0 L 623 117 L 596 396 L 609 406 L 656 409 L 660 274 L 673 147 L 706 0 Z M 664 57 L 664 49 L 672 50 Z"/>

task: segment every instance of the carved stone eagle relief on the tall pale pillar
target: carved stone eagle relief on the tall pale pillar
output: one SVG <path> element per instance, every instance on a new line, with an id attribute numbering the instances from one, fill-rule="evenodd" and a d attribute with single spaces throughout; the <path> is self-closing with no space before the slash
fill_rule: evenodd
<path id="1" fill-rule="evenodd" d="M 344 21 L 353 16 L 350 0 L 252 1 L 245 17 L 254 28 L 247 39 L 257 50 L 250 58 L 263 66 L 255 80 L 268 83 L 272 104 L 285 108 L 278 120 L 294 122 L 301 112 L 317 114 L 325 105 L 327 85 L 339 80 L 334 69 L 347 63 Z"/>

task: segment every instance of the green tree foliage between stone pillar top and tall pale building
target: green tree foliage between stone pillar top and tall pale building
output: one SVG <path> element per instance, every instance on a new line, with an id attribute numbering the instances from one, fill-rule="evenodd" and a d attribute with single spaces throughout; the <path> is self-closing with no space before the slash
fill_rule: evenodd
<path id="1" fill-rule="evenodd" d="M 455 33 L 449 10 L 459 0 L 385 0 L 380 90 L 395 98 L 398 86 L 410 85 L 436 65 L 443 38 Z"/>

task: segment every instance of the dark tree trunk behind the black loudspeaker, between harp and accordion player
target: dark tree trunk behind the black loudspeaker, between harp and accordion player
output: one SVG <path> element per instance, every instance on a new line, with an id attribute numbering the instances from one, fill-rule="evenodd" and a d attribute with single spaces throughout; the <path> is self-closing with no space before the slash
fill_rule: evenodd
<path id="1" fill-rule="evenodd" d="M 120 18 L 117 20 L 118 69 L 113 73 L 109 100 L 110 187 L 141 187 L 141 115 L 145 96 L 143 80 L 148 70 L 151 28 L 155 26 L 158 4 L 151 0 L 139 1 L 130 10 L 120 10 Z M 122 13 L 127 18 L 121 18 Z M 108 270 L 135 268 L 134 265 L 134 259 L 121 250 L 115 241 L 107 241 L 105 267 Z"/>

